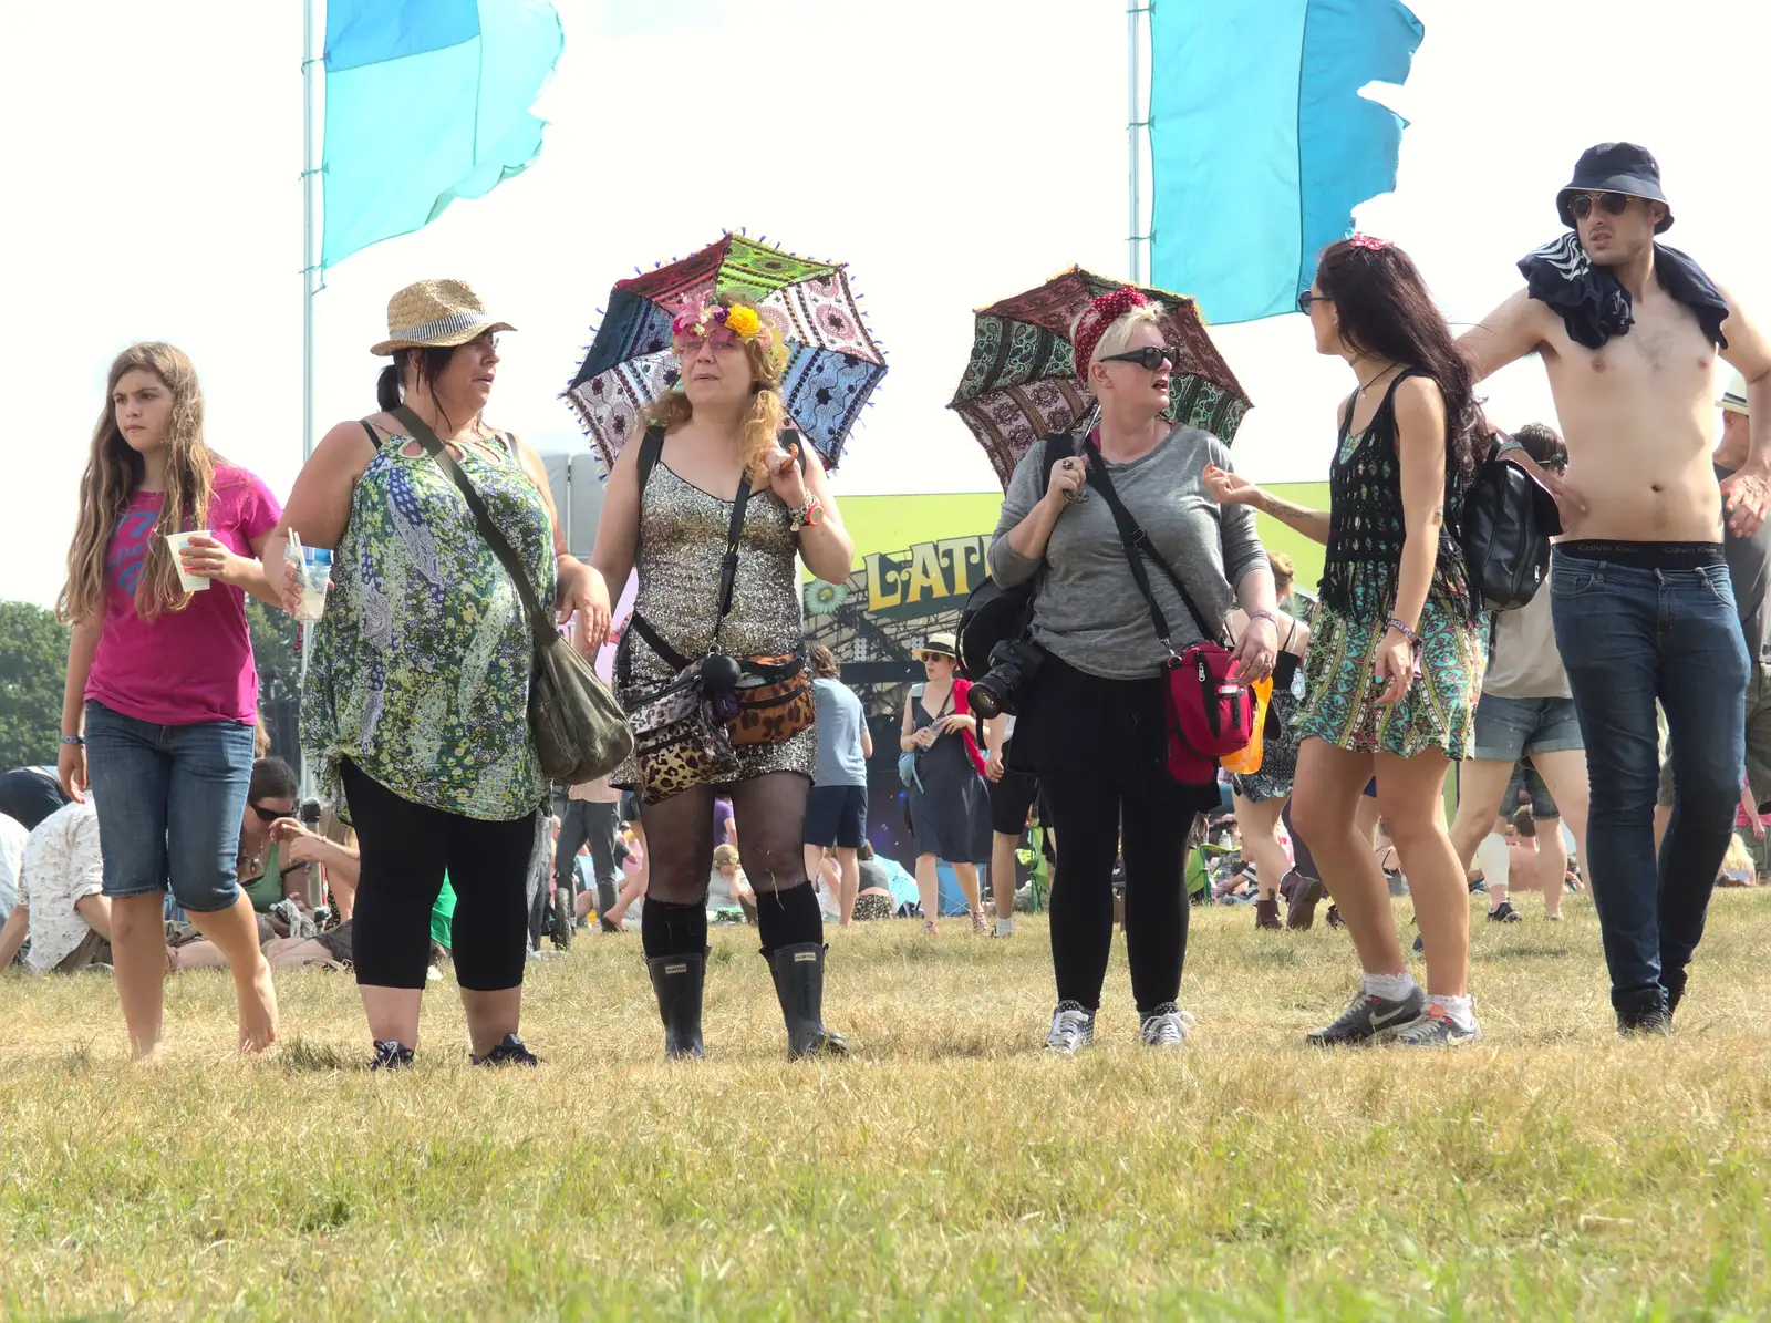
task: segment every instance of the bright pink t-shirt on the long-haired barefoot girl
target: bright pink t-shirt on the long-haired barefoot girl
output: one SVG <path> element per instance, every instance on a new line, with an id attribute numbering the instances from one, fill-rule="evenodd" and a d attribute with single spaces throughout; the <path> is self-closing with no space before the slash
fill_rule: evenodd
<path id="1" fill-rule="evenodd" d="M 276 528 L 283 512 L 255 475 L 216 466 L 209 531 L 230 551 L 251 556 L 253 538 Z M 259 669 L 246 631 L 246 593 L 225 583 L 191 593 L 182 611 L 154 620 L 135 613 L 159 492 L 136 492 L 104 558 L 104 632 L 87 675 L 87 698 L 158 726 L 259 719 Z"/>

